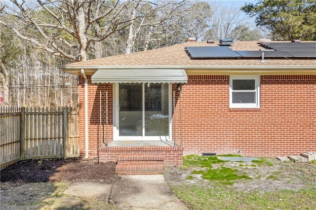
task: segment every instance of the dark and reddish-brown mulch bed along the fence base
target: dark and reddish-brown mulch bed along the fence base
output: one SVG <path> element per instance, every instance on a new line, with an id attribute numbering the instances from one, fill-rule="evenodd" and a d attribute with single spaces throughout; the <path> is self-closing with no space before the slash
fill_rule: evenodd
<path id="1" fill-rule="evenodd" d="M 1 169 L 1 182 L 76 182 L 112 184 L 120 180 L 113 162 L 98 163 L 79 159 L 26 160 Z"/>

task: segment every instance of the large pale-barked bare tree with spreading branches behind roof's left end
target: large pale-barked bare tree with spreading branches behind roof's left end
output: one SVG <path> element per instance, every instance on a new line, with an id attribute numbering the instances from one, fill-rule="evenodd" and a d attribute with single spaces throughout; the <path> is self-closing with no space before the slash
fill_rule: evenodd
<path id="1" fill-rule="evenodd" d="M 85 61 L 91 42 L 102 41 L 128 26 L 130 20 L 124 15 L 127 2 L 11 0 L 0 10 L 2 15 L 9 17 L 1 19 L 0 24 L 55 56 Z M 34 33 L 27 33 L 26 27 L 34 29 Z M 78 54 L 67 52 L 63 46 L 76 48 Z"/>

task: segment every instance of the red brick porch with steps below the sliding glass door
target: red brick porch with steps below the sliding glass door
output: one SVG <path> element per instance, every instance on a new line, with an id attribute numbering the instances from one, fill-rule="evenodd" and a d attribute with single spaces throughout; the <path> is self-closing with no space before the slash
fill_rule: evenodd
<path id="1" fill-rule="evenodd" d="M 161 174 L 164 166 L 183 165 L 183 147 L 156 142 L 130 142 L 126 145 L 102 145 L 99 162 L 117 163 L 116 173 L 122 175 Z"/>

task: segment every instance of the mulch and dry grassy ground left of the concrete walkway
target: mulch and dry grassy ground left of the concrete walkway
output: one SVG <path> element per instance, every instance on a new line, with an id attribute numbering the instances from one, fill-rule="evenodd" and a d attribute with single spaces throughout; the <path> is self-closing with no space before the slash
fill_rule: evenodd
<path id="1" fill-rule="evenodd" d="M 119 182 L 122 178 L 115 174 L 115 166 L 78 159 L 20 161 L 0 171 L 1 209 L 113 209 L 111 203 L 118 198 L 85 199 L 63 192 L 76 182 L 102 186 Z"/>

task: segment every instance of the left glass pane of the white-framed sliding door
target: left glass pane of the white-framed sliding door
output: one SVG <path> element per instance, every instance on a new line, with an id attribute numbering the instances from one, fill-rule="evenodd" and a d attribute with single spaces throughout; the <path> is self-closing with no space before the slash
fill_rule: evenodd
<path id="1" fill-rule="evenodd" d="M 119 136 L 143 136 L 142 84 L 119 84 Z"/>

